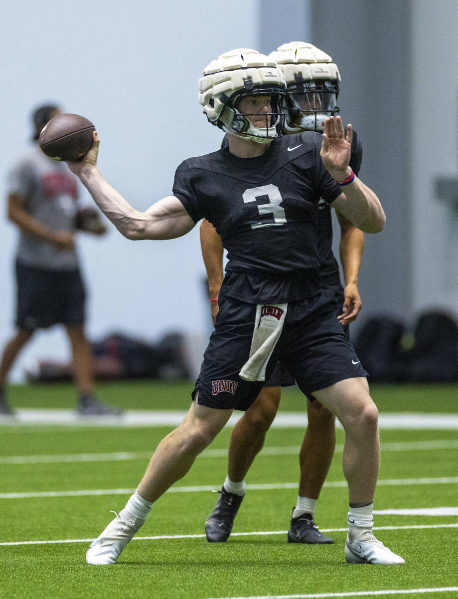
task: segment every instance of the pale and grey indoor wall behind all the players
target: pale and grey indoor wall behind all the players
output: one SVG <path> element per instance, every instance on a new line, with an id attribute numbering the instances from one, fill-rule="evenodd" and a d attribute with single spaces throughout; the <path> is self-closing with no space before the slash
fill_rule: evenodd
<path id="1" fill-rule="evenodd" d="M 436 177 L 458 171 L 456 0 L 0 0 L 0 7 L 2 201 L 7 169 L 30 137 L 30 112 L 57 101 L 93 120 L 102 173 L 147 208 L 170 193 L 183 159 L 221 140 L 197 102 L 203 67 L 234 47 L 269 52 L 311 41 L 341 67 L 343 114 L 358 123 L 365 146 L 362 174 L 390 219 L 367 242 L 358 322 L 392 312 L 412 321 L 431 307 L 457 313 L 458 217 L 434 197 Z M 338 22 L 329 20 L 336 10 Z M 198 233 L 137 243 L 114 229 L 103 240 L 82 235 L 90 337 L 120 330 L 153 340 L 180 329 L 205 340 Z M 0 218 L 0 346 L 14 331 L 15 243 L 16 229 Z M 196 363 L 202 349 L 196 344 Z M 39 332 L 12 378 L 35 358 L 66 356 L 62 331 Z"/>

